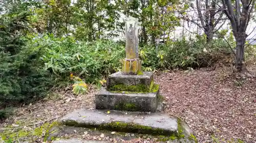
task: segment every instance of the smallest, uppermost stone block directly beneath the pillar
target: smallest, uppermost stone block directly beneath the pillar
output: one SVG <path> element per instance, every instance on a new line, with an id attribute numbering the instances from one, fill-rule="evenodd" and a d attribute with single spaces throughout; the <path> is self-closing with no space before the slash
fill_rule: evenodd
<path id="1" fill-rule="evenodd" d="M 107 89 L 110 89 L 112 86 L 117 84 L 124 85 L 145 85 L 150 89 L 151 81 L 153 80 L 152 72 L 143 72 L 143 75 L 125 75 L 122 72 L 116 72 L 108 77 Z"/>

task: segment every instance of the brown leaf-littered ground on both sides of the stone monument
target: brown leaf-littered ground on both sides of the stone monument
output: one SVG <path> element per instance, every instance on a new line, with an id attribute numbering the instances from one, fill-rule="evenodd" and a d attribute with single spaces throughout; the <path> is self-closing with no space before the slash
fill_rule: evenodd
<path id="1" fill-rule="evenodd" d="M 256 140 L 256 78 L 249 74 L 234 74 L 229 68 L 172 71 L 155 75 L 165 96 L 165 111 L 184 119 L 198 142 Z M 84 95 L 75 96 L 71 87 L 60 89 L 45 100 L 20 105 L 1 124 L 1 130 L 17 121 L 35 128 L 53 122 L 75 108 L 94 108 L 93 87 Z M 224 140 L 222 140 L 224 139 Z M 151 139 L 129 142 L 154 142 Z"/>

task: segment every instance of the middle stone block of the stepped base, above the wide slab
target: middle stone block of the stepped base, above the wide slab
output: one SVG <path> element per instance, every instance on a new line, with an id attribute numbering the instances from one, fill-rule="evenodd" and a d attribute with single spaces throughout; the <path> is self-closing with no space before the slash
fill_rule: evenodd
<path id="1" fill-rule="evenodd" d="M 112 93 L 101 88 L 95 95 L 96 109 L 155 112 L 159 90 L 156 93 Z"/>

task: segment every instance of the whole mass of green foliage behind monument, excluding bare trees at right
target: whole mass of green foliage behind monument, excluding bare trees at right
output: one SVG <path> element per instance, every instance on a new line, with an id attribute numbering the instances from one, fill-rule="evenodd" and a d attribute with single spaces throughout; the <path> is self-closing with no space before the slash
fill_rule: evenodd
<path id="1" fill-rule="evenodd" d="M 72 83 L 71 73 L 98 84 L 120 71 L 124 41 L 112 38 L 122 35 L 121 15 L 141 23 L 145 71 L 233 64 L 234 38 L 227 31 L 219 31 L 211 41 L 205 34 L 170 39 L 189 8 L 185 2 L 7 0 L 0 5 L 0 100 L 6 103 L 40 99 L 49 89 Z M 247 48 L 247 58 L 253 51 L 253 46 Z"/>

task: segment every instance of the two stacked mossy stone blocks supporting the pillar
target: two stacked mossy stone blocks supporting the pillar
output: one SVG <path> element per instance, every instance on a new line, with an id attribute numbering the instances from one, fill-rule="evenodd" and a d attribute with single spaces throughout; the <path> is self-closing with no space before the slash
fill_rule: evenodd
<path id="1" fill-rule="evenodd" d="M 111 74 L 107 88 L 95 95 L 96 109 L 156 112 L 159 85 L 154 83 L 153 73 L 125 75 Z"/>

